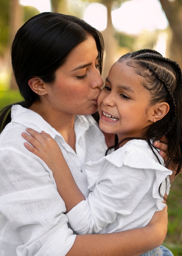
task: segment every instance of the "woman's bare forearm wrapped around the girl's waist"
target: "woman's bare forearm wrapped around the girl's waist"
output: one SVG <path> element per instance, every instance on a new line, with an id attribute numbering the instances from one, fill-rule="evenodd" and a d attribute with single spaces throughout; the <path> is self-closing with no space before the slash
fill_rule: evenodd
<path id="1" fill-rule="evenodd" d="M 112 234 L 77 235 L 67 256 L 137 256 L 161 245 L 167 233 L 167 207 L 146 227 Z"/>

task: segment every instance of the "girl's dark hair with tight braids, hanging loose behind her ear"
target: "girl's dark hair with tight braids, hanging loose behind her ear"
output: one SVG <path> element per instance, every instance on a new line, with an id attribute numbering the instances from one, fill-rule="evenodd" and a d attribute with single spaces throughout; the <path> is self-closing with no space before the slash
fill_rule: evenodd
<path id="1" fill-rule="evenodd" d="M 126 65 L 134 67 L 136 74 L 143 76 L 142 85 L 151 93 L 149 106 L 162 101 L 170 106 L 165 117 L 144 129 L 142 138 L 125 138 L 124 140 L 145 139 L 153 150 L 151 139 L 159 140 L 165 135 L 169 152 L 167 166 L 169 162 L 178 164 L 177 175 L 182 167 L 182 71 L 180 66 L 151 49 L 127 53 L 118 59 L 118 62 L 123 61 Z M 124 140 L 115 147 L 118 148 Z"/>

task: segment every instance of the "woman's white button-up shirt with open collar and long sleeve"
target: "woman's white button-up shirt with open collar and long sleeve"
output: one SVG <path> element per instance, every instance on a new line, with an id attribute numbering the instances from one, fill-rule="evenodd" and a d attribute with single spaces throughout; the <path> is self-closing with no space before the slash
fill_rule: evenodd
<path id="1" fill-rule="evenodd" d="M 52 171 L 24 148 L 21 133 L 29 127 L 50 134 L 85 196 L 89 193 L 85 162 L 105 154 L 104 136 L 91 116 L 77 116 L 76 154 L 37 113 L 15 105 L 11 119 L 0 135 L 0 255 L 64 256 L 76 235 L 68 228 L 66 207 Z"/>

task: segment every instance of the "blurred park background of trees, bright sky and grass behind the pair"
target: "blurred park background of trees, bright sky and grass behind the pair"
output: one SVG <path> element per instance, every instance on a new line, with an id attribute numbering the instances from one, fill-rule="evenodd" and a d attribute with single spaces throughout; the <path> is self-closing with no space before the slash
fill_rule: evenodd
<path id="1" fill-rule="evenodd" d="M 11 69 L 11 43 L 26 20 L 44 12 L 77 16 L 105 39 L 103 79 L 123 54 L 150 48 L 182 68 L 182 0 L 0 0 L 0 109 L 20 101 Z M 171 185 L 169 225 L 164 241 L 182 256 L 182 177 Z"/>

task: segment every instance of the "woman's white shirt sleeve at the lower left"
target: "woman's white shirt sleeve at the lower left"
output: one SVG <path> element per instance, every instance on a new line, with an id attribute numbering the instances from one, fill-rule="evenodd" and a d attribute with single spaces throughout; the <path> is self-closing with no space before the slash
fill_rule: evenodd
<path id="1" fill-rule="evenodd" d="M 0 248 L 5 255 L 66 255 L 76 236 L 49 171 L 29 154 L 0 154 Z"/>

